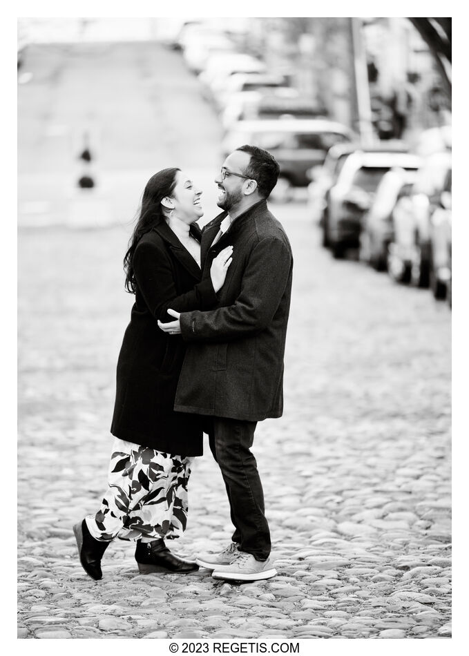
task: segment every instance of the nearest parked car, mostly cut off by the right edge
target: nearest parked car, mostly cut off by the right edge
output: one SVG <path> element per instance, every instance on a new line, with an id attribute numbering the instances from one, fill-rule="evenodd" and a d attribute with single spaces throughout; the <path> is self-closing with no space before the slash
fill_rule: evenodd
<path id="1" fill-rule="evenodd" d="M 439 203 L 430 217 L 430 288 L 434 298 L 443 299 L 448 296 L 449 300 L 452 276 L 451 177 L 450 169 L 446 174 Z"/>

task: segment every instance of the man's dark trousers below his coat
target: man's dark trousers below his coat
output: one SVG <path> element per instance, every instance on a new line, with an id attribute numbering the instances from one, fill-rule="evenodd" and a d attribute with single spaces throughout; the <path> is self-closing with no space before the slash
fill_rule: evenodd
<path id="1" fill-rule="evenodd" d="M 271 550 L 270 532 L 257 463 L 250 451 L 256 425 L 256 421 L 212 417 L 209 444 L 227 488 L 235 527 L 232 540 L 240 551 L 265 561 Z"/>

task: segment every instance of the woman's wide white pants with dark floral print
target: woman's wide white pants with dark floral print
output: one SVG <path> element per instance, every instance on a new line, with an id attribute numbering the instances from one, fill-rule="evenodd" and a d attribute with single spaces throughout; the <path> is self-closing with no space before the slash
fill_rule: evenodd
<path id="1" fill-rule="evenodd" d="M 180 537 L 193 460 L 115 438 L 108 491 L 98 512 L 86 517 L 90 533 L 105 541 Z"/>

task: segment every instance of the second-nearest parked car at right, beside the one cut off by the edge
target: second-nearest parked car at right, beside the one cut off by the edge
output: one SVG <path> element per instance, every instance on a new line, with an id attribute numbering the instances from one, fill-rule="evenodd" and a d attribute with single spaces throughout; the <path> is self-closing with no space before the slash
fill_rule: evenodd
<path id="1" fill-rule="evenodd" d="M 401 195 L 396 202 L 387 270 L 397 282 L 417 287 L 428 287 L 430 283 L 430 217 L 439 204 L 450 168 L 450 151 L 423 158 L 408 195 Z"/>

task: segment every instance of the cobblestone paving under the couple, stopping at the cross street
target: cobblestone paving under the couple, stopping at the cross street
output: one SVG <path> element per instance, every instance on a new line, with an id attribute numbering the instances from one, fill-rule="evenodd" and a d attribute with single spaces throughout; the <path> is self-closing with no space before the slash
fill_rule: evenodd
<path id="1" fill-rule="evenodd" d="M 21 231 L 20 637 L 450 635 L 450 311 L 332 260 L 302 204 L 277 213 L 295 256 L 285 414 L 254 452 L 278 576 L 240 586 L 139 575 L 124 541 L 102 581 L 79 566 L 71 526 L 106 485 L 127 235 Z M 208 445 L 190 500 L 175 550 L 224 547 Z"/>

